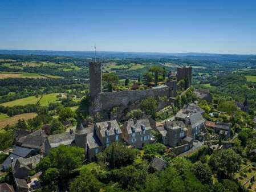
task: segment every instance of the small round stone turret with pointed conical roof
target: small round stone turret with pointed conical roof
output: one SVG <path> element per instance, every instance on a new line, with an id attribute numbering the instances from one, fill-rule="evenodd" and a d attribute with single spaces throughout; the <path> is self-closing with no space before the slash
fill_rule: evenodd
<path id="1" fill-rule="evenodd" d="M 80 123 L 75 131 L 75 144 L 84 148 L 84 152 L 87 154 L 87 130 L 83 124 Z"/>

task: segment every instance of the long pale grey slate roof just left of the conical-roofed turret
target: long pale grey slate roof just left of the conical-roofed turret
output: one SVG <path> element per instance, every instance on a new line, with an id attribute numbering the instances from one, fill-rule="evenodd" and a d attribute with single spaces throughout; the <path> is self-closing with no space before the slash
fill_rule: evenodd
<path id="1" fill-rule="evenodd" d="M 70 132 L 54 134 L 48 136 L 48 141 L 50 143 L 51 148 L 56 148 L 60 145 L 71 145 L 71 143 L 75 140 L 75 134 L 70 134 Z"/>

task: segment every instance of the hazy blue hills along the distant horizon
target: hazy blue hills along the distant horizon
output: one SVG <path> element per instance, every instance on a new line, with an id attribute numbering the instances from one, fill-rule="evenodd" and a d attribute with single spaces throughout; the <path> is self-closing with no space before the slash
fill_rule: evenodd
<path id="1" fill-rule="evenodd" d="M 4 55 L 50 55 L 72 56 L 75 58 L 94 58 L 94 51 L 41 51 L 41 50 L 0 50 Z M 144 58 L 144 59 L 207 59 L 207 60 L 256 60 L 256 55 L 231 55 L 231 54 L 208 54 L 208 53 L 158 53 L 158 52 L 114 52 L 97 51 L 97 58 Z"/>

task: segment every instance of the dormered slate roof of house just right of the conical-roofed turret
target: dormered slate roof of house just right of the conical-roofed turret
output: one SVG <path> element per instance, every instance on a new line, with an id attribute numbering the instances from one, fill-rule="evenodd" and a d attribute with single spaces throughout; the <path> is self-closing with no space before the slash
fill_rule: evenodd
<path id="1" fill-rule="evenodd" d="M 110 128 L 108 126 L 108 123 L 110 123 Z M 103 121 L 103 122 L 96 122 L 97 128 L 100 128 L 100 134 L 101 137 L 105 137 L 105 130 L 108 130 L 109 136 L 115 134 L 115 129 L 118 130 L 118 134 L 122 133 L 118 123 L 116 120 L 111 121 Z"/>

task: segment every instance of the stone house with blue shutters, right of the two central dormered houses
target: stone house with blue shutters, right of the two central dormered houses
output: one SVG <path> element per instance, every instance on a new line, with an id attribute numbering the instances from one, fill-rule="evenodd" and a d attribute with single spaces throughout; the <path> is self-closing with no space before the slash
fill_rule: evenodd
<path id="1" fill-rule="evenodd" d="M 151 129 L 149 119 L 130 119 L 122 127 L 123 140 L 135 148 L 142 148 L 151 142 Z"/>

